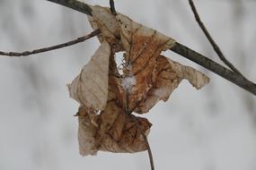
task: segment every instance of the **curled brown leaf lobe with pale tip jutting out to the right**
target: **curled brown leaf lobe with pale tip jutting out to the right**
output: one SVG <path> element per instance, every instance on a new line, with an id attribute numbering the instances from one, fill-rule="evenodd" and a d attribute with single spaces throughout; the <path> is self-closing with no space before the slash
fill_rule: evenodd
<path id="1" fill-rule="evenodd" d="M 190 81 L 196 89 L 200 89 L 209 82 L 209 78 L 203 73 L 189 66 L 173 62 L 163 55 L 157 57 L 156 77 L 156 81 L 146 97 L 137 102 L 136 113 L 147 113 L 158 101 L 167 101 L 172 91 L 179 86 L 183 79 Z"/>

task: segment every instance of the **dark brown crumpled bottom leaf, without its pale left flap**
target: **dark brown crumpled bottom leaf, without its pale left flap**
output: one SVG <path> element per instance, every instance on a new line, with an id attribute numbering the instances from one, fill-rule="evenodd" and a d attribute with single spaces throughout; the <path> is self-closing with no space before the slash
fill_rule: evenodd
<path id="1" fill-rule="evenodd" d="M 101 121 L 97 133 L 101 150 L 129 153 L 146 150 L 146 143 L 139 130 L 142 128 L 146 135 L 149 132 L 151 123 L 145 118 L 137 117 L 137 124 L 132 116 L 126 114 L 115 101 L 111 101 L 102 112 Z"/>

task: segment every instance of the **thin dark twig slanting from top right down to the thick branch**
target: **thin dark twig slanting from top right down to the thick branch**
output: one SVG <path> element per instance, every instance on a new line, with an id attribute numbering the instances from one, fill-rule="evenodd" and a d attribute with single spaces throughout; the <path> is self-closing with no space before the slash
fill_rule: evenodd
<path id="1" fill-rule="evenodd" d="M 205 27 L 204 23 L 201 21 L 199 13 L 197 11 L 197 8 L 193 2 L 193 0 L 189 0 L 190 3 L 190 8 L 192 10 L 192 12 L 194 13 L 195 19 L 196 21 L 198 21 L 199 23 L 199 27 L 201 28 L 201 30 L 203 30 L 204 34 L 206 35 L 208 41 L 210 42 L 210 44 L 212 45 L 212 47 L 214 48 L 214 50 L 216 51 L 216 54 L 219 56 L 219 58 L 234 72 L 239 73 L 240 75 L 243 75 L 241 72 L 239 72 L 233 64 L 231 64 L 226 58 L 225 55 L 222 53 L 221 49 L 217 46 L 215 40 L 211 37 L 211 35 L 209 34 L 207 28 Z M 244 77 L 244 76 L 243 76 Z"/>

